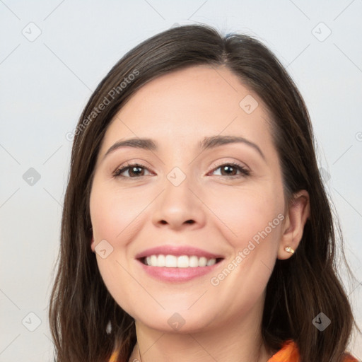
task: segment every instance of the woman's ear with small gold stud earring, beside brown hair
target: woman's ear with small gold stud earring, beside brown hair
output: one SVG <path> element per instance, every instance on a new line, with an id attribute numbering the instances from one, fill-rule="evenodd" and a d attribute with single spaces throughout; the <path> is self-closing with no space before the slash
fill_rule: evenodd
<path id="1" fill-rule="evenodd" d="M 308 192 L 303 189 L 293 195 L 286 215 L 283 232 L 279 243 L 278 259 L 288 259 L 290 252 L 285 247 L 296 250 L 302 240 L 305 223 L 310 216 L 310 199 Z"/>

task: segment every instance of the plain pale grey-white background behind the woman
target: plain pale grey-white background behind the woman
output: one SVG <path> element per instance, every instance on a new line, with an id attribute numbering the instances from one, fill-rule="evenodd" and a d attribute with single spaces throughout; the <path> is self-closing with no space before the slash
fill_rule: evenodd
<path id="1" fill-rule="evenodd" d="M 313 120 L 358 279 L 346 288 L 362 327 L 362 0 L 0 0 L 0 16 L 1 362 L 52 360 L 47 305 L 69 170 L 66 133 L 111 66 L 175 23 L 255 35 L 287 66 Z M 41 176 L 34 185 L 23 179 L 29 168 Z M 362 358 L 361 336 L 351 350 Z"/>

